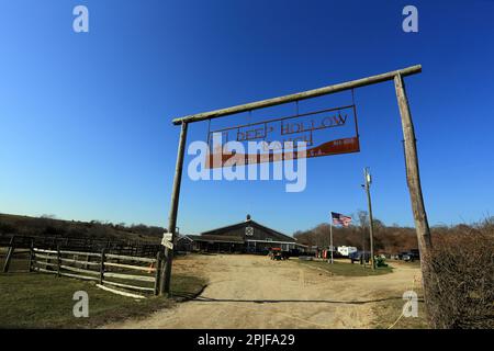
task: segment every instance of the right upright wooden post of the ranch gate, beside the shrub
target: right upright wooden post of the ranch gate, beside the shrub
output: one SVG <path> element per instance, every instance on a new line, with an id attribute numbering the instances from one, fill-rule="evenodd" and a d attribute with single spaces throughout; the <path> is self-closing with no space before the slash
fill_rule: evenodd
<path id="1" fill-rule="evenodd" d="M 424 260 L 427 259 L 433 242 L 422 195 L 415 131 L 412 122 L 412 114 L 409 112 L 408 100 L 406 98 L 405 82 L 403 81 L 401 73 L 397 73 L 394 77 L 394 87 L 396 89 L 396 98 L 400 114 L 402 116 L 403 137 L 405 140 L 406 181 L 408 184 L 409 197 L 412 200 L 412 211 L 414 213 L 415 229 L 417 231 L 418 249 L 420 250 L 422 272 L 424 273 L 426 269 Z"/>

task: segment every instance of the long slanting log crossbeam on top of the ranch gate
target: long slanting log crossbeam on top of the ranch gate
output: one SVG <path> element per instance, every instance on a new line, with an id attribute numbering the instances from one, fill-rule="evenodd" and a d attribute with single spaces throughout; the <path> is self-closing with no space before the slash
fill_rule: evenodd
<path id="1" fill-rule="evenodd" d="M 276 106 L 276 105 L 283 104 L 283 103 L 289 103 L 289 102 L 294 102 L 294 101 L 300 101 L 300 100 L 305 100 L 305 99 L 311 99 L 311 98 L 317 98 L 317 97 L 322 97 L 322 95 L 333 94 L 333 93 L 339 92 L 339 91 L 345 91 L 345 90 L 349 90 L 349 89 L 375 84 L 375 83 L 380 83 L 380 82 L 383 82 L 386 80 L 393 80 L 394 77 L 397 75 L 401 75 L 402 77 L 406 77 L 406 76 L 416 75 L 419 72 L 422 72 L 420 65 L 411 66 L 407 68 L 397 69 L 397 70 L 390 71 L 390 72 L 382 73 L 382 75 L 371 76 L 371 77 L 351 80 L 351 81 L 347 81 L 347 82 L 343 82 L 343 83 L 338 83 L 338 84 L 334 84 L 334 86 L 328 86 L 328 87 L 324 87 L 324 88 L 297 92 L 297 93 L 290 94 L 290 95 L 256 101 L 256 102 L 246 103 L 243 105 L 236 105 L 236 106 L 232 106 L 232 107 L 227 107 L 227 109 L 221 109 L 221 110 L 215 110 L 215 111 L 210 111 L 210 112 L 191 114 L 188 116 L 173 118 L 172 123 L 175 125 L 179 125 L 182 123 L 201 122 L 204 120 L 223 117 L 223 116 L 227 116 L 227 115 L 232 115 L 232 114 L 236 114 L 236 113 Z"/>

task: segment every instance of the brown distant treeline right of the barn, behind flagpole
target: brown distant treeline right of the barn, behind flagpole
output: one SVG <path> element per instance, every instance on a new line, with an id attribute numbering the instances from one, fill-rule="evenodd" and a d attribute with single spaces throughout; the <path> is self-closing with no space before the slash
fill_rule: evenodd
<path id="1" fill-rule="evenodd" d="M 352 216 L 353 222 L 349 227 L 333 227 L 333 242 L 335 246 L 353 246 L 359 250 L 366 247 L 369 250 L 369 217 L 367 212 L 360 211 Z M 433 240 L 435 236 L 452 235 L 458 233 L 467 233 L 478 230 L 484 226 L 491 226 L 493 218 L 485 219 L 479 224 L 456 225 L 456 226 L 434 226 L 430 228 Z M 417 237 L 415 228 L 401 227 L 398 225 L 386 226 L 383 222 L 373 219 L 373 244 L 377 253 L 397 253 L 417 249 Z M 310 230 L 299 230 L 294 233 L 294 237 L 299 242 L 311 246 L 328 247 L 329 246 L 329 223 L 323 223 Z"/>

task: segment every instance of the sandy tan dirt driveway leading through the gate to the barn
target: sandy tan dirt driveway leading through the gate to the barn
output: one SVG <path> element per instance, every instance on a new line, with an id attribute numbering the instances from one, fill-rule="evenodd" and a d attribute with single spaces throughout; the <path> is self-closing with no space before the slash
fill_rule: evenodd
<path id="1" fill-rule="evenodd" d="M 240 254 L 194 254 L 175 269 L 207 278 L 201 296 L 105 328 L 369 328 L 372 304 L 400 298 L 419 276 L 403 264 L 391 274 L 330 276 L 296 261 Z"/>

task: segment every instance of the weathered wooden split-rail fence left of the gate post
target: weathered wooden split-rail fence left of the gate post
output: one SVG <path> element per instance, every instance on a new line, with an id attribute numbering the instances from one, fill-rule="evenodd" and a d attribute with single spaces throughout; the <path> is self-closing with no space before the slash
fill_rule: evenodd
<path id="1" fill-rule="evenodd" d="M 15 271 L 18 261 L 22 261 L 24 271 L 94 281 L 98 287 L 128 297 L 144 298 L 146 294 L 159 294 L 160 246 L 26 236 L 7 239 L 2 236 L 0 247 L 4 249 L 3 273 L 12 270 L 12 262 L 15 263 Z M 19 256 L 22 258 L 19 259 Z"/>

